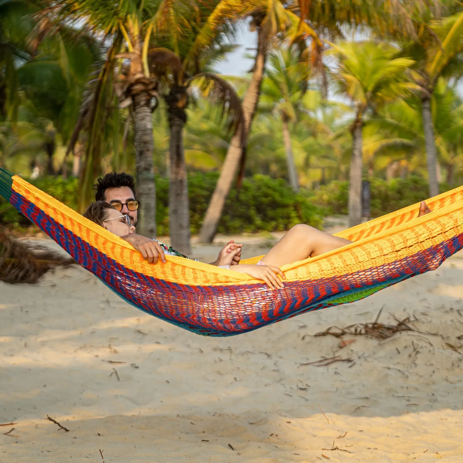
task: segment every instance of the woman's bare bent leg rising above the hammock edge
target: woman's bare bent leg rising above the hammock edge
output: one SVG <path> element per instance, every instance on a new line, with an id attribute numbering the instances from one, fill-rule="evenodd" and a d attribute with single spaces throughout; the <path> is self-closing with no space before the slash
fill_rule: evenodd
<path id="1" fill-rule="evenodd" d="M 281 267 L 287 263 L 324 254 L 349 243 L 351 241 L 321 232 L 309 225 L 295 225 L 269 250 L 262 263 Z"/>

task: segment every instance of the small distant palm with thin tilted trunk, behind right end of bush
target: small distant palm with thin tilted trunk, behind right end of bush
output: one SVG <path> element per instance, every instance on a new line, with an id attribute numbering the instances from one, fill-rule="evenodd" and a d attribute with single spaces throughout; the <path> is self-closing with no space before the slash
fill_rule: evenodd
<path id="1" fill-rule="evenodd" d="M 282 121 L 288 177 L 291 188 L 299 191 L 299 179 L 294 164 L 289 123 L 297 120 L 302 95 L 307 87 L 309 70 L 300 61 L 297 45 L 275 50 L 269 57 L 269 69 L 263 81 L 260 109 L 268 108 Z"/>

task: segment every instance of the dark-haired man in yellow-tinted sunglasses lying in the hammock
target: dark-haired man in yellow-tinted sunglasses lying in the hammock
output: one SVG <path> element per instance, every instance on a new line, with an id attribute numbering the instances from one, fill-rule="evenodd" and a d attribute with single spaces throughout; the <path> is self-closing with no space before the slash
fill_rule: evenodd
<path id="1" fill-rule="evenodd" d="M 132 224 L 135 227 L 137 226 L 139 202 L 135 199 L 135 181 L 131 175 L 125 174 L 124 172 L 120 174 L 111 172 L 97 179 L 94 189 L 96 190 L 96 201 L 106 201 L 111 204 L 111 206 L 122 214 L 128 215 Z M 137 233 L 132 233 L 122 238 L 130 243 L 136 250 L 140 251 L 144 259 L 147 259 L 149 263 L 157 262 L 159 257 L 165 262 L 164 251 L 167 251 L 169 254 L 181 256 L 178 251 L 175 251 L 171 247 L 168 248 L 158 241 L 138 235 Z M 165 246 L 164 249 L 163 246 Z M 233 240 L 229 241 L 220 250 L 219 256 L 214 262 L 211 262 L 211 265 L 220 265 L 224 253 L 235 250 L 235 246 L 241 247 L 242 244 L 235 244 Z M 233 257 L 232 265 L 237 265 L 240 258 L 241 250 Z"/>

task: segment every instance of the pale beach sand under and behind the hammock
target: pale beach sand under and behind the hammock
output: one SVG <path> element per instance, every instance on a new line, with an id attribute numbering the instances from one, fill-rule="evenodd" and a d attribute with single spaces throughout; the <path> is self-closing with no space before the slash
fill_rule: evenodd
<path id="1" fill-rule="evenodd" d="M 245 257 L 270 238 L 244 239 Z M 0 462 L 461 463 L 462 297 L 460 254 L 354 304 L 205 338 L 77 266 L 0 282 Z M 381 307 L 435 334 L 314 336 Z M 352 362 L 304 365 L 334 356 Z"/>

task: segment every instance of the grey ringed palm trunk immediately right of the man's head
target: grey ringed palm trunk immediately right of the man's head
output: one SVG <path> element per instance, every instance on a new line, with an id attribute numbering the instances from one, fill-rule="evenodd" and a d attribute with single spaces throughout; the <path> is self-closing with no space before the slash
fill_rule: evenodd
<path id="1" fill-rule="evenodd" d="M 156 236 L 156 188 L 153 167 L 153 121 L 150 97 L 146 92 L 133 96 L 135 163 L 137 166 L 138 209 L 137 232 L 149 238 Z"/>

